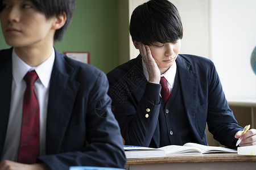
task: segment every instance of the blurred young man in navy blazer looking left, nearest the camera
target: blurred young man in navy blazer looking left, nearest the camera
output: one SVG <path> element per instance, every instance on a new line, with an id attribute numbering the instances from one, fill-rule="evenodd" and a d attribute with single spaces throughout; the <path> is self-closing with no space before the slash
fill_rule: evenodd
<path id="1" fill-rule="evenodd" d="M 102 71 L 58 53 L 75 0 L 0 0 L 0 169 L 125 165 Z"/>

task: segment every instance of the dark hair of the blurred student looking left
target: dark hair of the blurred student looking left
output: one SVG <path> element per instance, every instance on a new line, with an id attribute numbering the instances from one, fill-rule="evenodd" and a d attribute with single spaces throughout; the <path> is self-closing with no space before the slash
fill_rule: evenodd
<path id="1" fill-rule="evenodd" d="M 67 20 L 63 27 L 57 29 L 54 35 L 54 41 L 61 41 L 64 37 L 64 33 L 68 28 L 73 12 L 75 11 L 75 0 L 30 0 L 39 11 L 46 15 L 49 19 L 53 16 L 60 16 L 65 12 Z M 0 12 L 2 11 L 3 0 L 0 0 Z"/>

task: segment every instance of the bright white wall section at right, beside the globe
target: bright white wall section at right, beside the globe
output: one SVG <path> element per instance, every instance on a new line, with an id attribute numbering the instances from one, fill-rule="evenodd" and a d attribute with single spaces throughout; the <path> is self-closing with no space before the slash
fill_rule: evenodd
<path id="1" fill-rule="evenodd" d="M 212 60 L 228 100 L 256 99 L 256 1 L 211 0 Z"/>

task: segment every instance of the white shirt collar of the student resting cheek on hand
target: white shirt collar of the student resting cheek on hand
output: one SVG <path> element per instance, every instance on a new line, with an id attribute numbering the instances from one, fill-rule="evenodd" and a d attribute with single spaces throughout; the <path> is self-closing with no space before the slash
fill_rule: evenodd
<path id="1" fill-rule="evenodd" d="M 143 67 L 143 74 L 146 77 L 146 79 L 148 80 L 147 67 L 146 67 L 146 63 L 143 61 L 143 59 L 142 59 L 142 67 Z M 174 64 L 166 71 L 166 73 L 161 75 L 166 78 L 167 82 L 171 85 L 171 87 L 174 86 L 174 80 L 175 80 L 175 75 L 176 75 L 176 71 L 177 71 L 176 69 L 177 69 L 177 65 L 176 65 L 176 61 L 175 61 Z"/>

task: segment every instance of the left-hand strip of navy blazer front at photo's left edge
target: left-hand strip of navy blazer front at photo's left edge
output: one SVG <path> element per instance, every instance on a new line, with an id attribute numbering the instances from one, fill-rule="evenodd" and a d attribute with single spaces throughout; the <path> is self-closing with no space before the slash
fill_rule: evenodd
<path id="1" fill-rule="evenodd" d="M 0 158 L 2 156 L 3 145 L 5 144 L 6 131 L 9 121 L 10 103 L 11 103 L 11 84 L 13 81 L 11 52 L 12 48 L 0 53 Z"/>

